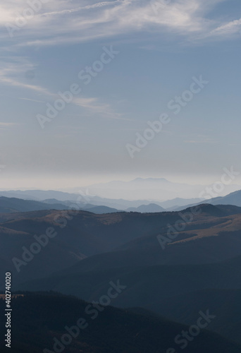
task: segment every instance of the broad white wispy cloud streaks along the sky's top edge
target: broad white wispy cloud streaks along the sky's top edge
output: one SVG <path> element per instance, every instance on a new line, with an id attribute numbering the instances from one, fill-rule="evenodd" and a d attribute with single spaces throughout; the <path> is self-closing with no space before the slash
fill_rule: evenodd
<path id="1" fill-rule="evenodd" d="M 158 3 L 159 0 L 156 0 Z M 94 2 L 49 1 L 27 24 L 23 31 L 23 41 L 16 45 L 47 45 L 63 42 L 82 42 L 97 38 L 113 37 L 130 32 L 175 32 L 188 40 L 204 40 L 206 37 L 233 35 L 240 20 L 230 23 L 211 20 L 209 12 L 227 0 L 172 0 L 170 4 L 154 11 L 152 1 L 116 0 Z M 1 4 L 0 26 L 6 31 L 7 21 L 14 23 L 16 12 L 26 8 L 25 1 L 10 1 Z"/>

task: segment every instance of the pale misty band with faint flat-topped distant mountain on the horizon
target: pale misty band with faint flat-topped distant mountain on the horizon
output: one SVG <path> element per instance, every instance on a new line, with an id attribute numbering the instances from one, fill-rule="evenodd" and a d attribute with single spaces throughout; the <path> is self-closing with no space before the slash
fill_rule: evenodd
<path id="1" fill-rule="evenodd" d="M 30 187 L 27 188 L 13 188 L 13 189 L 4 189 L 0 188 L 0 195 L 15 197 L 15 198 L 27 198 L 35 200 L 44 200 L 49 198 L 54 198 L 57 200 L 73 200 L 73 196 L 68 198 L 68 194 L 75 194 L 84 196 L 84 202 L 92 203 L 95 196 L 103 199 L 123 199 L 126 201 L 153 201 L 153 202 L 163 202 L 171 201 L 175 198 L 181 199 L 199 199 L 209 200 L 211 198 L 216 198 L 220 196 L 227 196 L 234 191 L 240 191 L 240 184 L 235 184 L 233 182 L 225 183 L 222 181 L 231 181 L 228 178 L 230 171 L 225 169 L 226 173 L 223 173 L 223 177 L 220 180 L 216 180 L 212 184 L 185 184 L 178 182 L 170 181 L 165 178 L 135 178 L 131 180 L 121 181 L 112 180 L 107 182 L 98 182 L 94 184 L 88 184 L 86 186 L 69 186 L 68 188 L 38 188 Z M 230 174 L 231 175 L 231 174 Z M 223 179 L 224 178 L 224 179 Z M 56 184 L 54 184 L 56 186 Z M 11 193 L 4 193 L 4 191 L 13 191 Z M 26 194 L 14 193 L 14 191 L 26 191 Z M 44 194 L 38 193 L 27 193 L 27 191 L 46 191 Z M 53 191 L 53 192 L 52 192 Z M 56 194 L 55 191 L 61 191 L 66 194 L 66 197 L 63 198 L 61 194 Z M 60 197 L 61 198 L 58 198 Z M 74 200 L 73 200 L 74 201 Z M 190 201 L 190 203 L 192 203 Z"/>

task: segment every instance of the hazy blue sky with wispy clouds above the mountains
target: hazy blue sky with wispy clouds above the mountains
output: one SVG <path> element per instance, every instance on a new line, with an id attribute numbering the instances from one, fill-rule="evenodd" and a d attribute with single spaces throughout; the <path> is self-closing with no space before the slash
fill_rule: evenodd
<path id="1" fill-rule="evenodd" d="M 1 0 L 0 189 L 239 171 L 240 25 L 240 0 Z"/>

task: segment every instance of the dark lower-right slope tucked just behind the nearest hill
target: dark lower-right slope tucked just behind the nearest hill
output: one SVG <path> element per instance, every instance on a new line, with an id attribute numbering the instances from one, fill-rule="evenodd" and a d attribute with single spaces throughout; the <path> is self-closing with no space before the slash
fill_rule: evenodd
<path id="1" fill-rule="evenodd" d="M 240 297 L 241 289 L 204 289 L 163 299 L 157 312 L 170 320 L 192 325 L 197 311 L 205 310 L 208 304 L 209 311 L 216 314 L 209 330 L 241 344 Z"/>

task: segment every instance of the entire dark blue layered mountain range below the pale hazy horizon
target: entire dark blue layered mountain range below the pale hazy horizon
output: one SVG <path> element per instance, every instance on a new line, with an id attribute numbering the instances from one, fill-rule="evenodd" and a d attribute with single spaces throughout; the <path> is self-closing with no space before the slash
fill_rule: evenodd
<path id="1" fill-rule="evenodd" d="M 106 307 L 66 352 L 166 353 L 200 311 L 210 311 L 215 320 L 186 352 L 209 352 L 210 347 L 217 353 L 240 352 L 241 207 L 231 204 L 240 198 L 236 191 L 196 208 L 166 211 L 151 203 L 108 213 L 105 205 L 68 210 L 71 200 L 2 196 L 1 274 L 10 271 L 12 290 L 24 294 L 14 299 L 13 352 L 53 351 L 54 335 L 59 339 L 65 325 L 74 325 L 77 308 L 85 313 L 109 291 L 110 282 L 126 287 L 111 301 L 115 308 Z M 106 213 L 93 213 L 93 208 Z M 159 329 L 165 340 L 159 340 Z M 178 353 L 180 347 L 174 349 Z"/>

